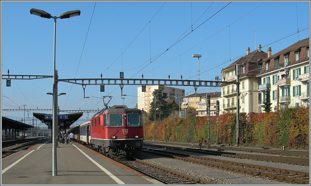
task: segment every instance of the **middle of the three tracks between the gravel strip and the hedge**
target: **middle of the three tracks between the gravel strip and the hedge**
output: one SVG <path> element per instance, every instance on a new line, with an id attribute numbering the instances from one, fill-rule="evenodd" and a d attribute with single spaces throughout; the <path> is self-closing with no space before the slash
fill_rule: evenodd
<path id="1" fill-rule="evenodd" d="M 252 159 L 257 161 L 267 161 L 267 162 L 277 162 L 277 163 L 287 163 L 291 165 L 301 165 L 309 166 L 309 158 L 299 158 L 299 157 L 282 157 L 282 156 L 269 156 L 269 155 L 258 155 L 258 154 L 247 154 L 247 153 L 233 153 L 233 152 L 223 152 L 207 149 L 195 149 L 195 148 L 184 148 L 184 147 L 171 147 L 164 144 L 148 144 L 144 143 L 146 146 L 154 146 L 160 148 L 182 150 L 194 153 L 203 153 L 214 156 L 223 156 L 223 157 L 233 157 L 239 159 Z"/>

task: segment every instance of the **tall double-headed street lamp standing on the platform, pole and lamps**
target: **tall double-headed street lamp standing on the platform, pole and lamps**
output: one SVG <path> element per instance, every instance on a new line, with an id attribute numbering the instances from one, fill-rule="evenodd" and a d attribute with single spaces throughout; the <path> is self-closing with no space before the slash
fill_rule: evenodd
<path id="1" fill-rule="evenodd" d="M 30 14 L 37 15 L 39 17 L 51 19 L 54 18 L 54 54 L 53 54 L 53 134 L 52 134 L 52 151 L 53 151 L 53 168 L 52 168 L 52 175 L 57 176 L 57 156 L 56 156 L 56 147 L 57 147 L 57 71 L 55 70 L 55 47 L 56 47 L 56 19 L 65 19 L 65 18 L 71 18 L 77 15 L 80 15 L 80 10 L 72 10 L 67 11 L 65 13 L 60 14 L 59 16 L 51 16 L 51 14 L 47 13 L 43 10 L 38 10 L 35 8 L 30 9 Z"/>

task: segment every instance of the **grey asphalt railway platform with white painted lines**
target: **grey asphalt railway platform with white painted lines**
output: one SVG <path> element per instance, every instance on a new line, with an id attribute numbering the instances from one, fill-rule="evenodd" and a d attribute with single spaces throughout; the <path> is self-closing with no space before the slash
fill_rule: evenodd
<path id="1" fill-rule="evenodd" d="M 49 139 L 3 158 L 1 185 L 162 184 L 79 143 L 58 144 L 56 176 Z"/>

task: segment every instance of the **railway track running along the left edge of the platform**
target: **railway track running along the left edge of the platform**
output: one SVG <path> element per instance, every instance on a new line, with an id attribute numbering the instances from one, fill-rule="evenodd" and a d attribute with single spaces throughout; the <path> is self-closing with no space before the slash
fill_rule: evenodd
<path id="1" fill-rule="evenodd" d="M 32 140 L 27 140 L 26 142 L 23 140 L 22 143 L 10 143 L 6 144 L 5 147 L 2 146 L 2 158 L 5 158 L 11 154 L 14 154 L 21 150 L 26 150 L 32 145 L 38 144 L 40 142 L 46 141 L 47 139 L 50 139 L 51 137 L 46 138 L 37 138 Z M 21 141 L 15 141 L 15 142 L 21 142 Z"/>

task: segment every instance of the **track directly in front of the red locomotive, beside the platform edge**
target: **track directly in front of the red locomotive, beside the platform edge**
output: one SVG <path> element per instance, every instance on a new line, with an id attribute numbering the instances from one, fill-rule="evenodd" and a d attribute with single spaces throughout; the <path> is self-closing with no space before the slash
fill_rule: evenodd
<path id="1" fill-rule="evenodd" d="M 165 184 L 215 184 L 213 182 L 170 170 L 165 167 L 157 166 L 140 159 L 113 159 Z"/>

